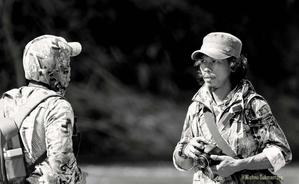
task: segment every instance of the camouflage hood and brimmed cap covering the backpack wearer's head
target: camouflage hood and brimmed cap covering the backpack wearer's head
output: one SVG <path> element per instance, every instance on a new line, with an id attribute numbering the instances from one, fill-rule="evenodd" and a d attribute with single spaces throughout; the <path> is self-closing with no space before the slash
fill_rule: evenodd
<path id="1" fill-rule="evenodd" d="M 43 35 L 29 42 L 23 54 L 25 77 L 44 82 L 57 91 L 65 91 L 70 76 L 70 56 L 81 52 L 78 42 L 66 42 L 64 38 Z"/>

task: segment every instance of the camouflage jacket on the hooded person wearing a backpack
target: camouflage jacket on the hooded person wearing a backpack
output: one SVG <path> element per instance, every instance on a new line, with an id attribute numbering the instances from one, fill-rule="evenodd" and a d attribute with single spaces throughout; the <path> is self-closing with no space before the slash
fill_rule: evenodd
<path id="1" fill-rule="evenodd" d="M 31 85 L 4 93 L 4 115 L 19 111 L 34 94 L 47 91 L 45 87 Z M 26 178 L 31 184 L 77 184 L 82 173 L 72 153 L 72 127 L 74 114 L 71 105 L 60 97 L 50 97 L 40 103 L 22 123 L 20 134 L 24 145 L 25 167 L 29 167 L 47 150 L 48 158 L 35 166 Z"/>

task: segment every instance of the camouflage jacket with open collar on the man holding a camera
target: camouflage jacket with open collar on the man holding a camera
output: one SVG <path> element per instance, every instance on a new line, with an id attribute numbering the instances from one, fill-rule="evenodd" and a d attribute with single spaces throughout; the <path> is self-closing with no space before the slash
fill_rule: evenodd
<path id="1" fill-rule="evenodd" d="M 291 161 L 292 154 L 283 131 L 273 117 L 266 100 L 255 93 L 248 80 L 243 80 L 232 90 L 221 105 L 214 102 L 205 86 L 200 88 L 193 97 L 193 103 L 189 106 L 181 140 L 176 149 L 198 136 L 205 137 L 216 144 L 206 125 L 201 104 L 210 108 L 216 116 L 220 134 L 240 158 L 251 157 L 258 154 L 258 150 L 262 150 L 271 162 L 273 168 L 270 170 L 274 172 Z M 219 118 L 231 112 L 236 105 L 242 108 L 234 112 L 234 116 L 227 123 L 218 123 Z M 174 153 L 176 152 L 177 150 Z M 231 180 L 231 177 L 224 178 L 212 174 L 209 167 L 200 168 L 196 162 L 187 170 L 180 167 L 174 156 L 173 162 L 176 168 L 182 171 L 194 168 L 196 173 L 193 183 L 196 184 L 226 183 Z"/>

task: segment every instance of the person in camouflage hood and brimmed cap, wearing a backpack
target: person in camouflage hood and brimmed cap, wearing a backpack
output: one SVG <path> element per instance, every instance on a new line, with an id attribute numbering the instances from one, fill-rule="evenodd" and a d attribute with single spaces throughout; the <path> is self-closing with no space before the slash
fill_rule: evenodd
<path id="1" fill-rule="evenodd" d="M 29 42 L 24 50 L 23 65 L 30 83 L 4 93 L 5 116 L 17 112 L 41 92 L 52 90 L 63 96 L 70 81 L 70 56 L 80 52 L 80 43 L 66 42 L 58 36 L 44 35 Z M 86 183 L 87 174 L 82 174 L 77 167 L 72 152 L 73 125 L 71 105 L 59 96 L 46 99 L 25 118 L 19 131 L 25 166 L 29 167 L 47 152 L 47 158 L 35 166 L 25 183 Z"/>

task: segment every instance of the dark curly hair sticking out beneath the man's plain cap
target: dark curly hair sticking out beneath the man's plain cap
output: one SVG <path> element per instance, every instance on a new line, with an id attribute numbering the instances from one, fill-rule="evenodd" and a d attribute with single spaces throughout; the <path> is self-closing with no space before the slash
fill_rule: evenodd
<path id="1" fill-rule="evenodd" d="M 247 58 L 241 54 L 240 57 L 236 58 L 234 56 L 229 57 L 228 59 L 229 65 L 234 72 L 231 72 L 230 80 L 231 86 L 234 88 L 239 82 L 245 77 L 248 70 L 248 62 Z M 205 81 L 202 76 L 202 72 L 200 71 L 200 61 L 196 60 L 194 63 L 194 68 L 198 71 L 198 83 L 199 85 L 204 85 Z"/>

